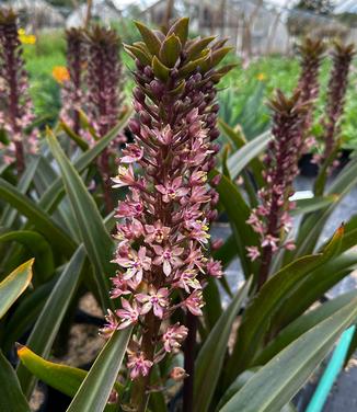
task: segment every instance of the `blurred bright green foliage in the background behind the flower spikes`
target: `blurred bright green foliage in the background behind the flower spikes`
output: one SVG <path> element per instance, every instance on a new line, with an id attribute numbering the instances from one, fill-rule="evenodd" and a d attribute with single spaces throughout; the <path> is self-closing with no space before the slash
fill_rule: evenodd
<path id="1" fill-rule="evenodd" d="M 137 33 L 131 22 L 114 24 L 124 43 L 137 39 Z M 55 123 L 60 108 L 60 85 L 51 76 L 55 66 L 66 65 L 66 43 L 62 31 L 43 32 L 37 36 L 36 45 L 24 46 L 24 57 L 31 78 L 31 92 L 36 115 L 47 123 Z M 131 59 L 122 50 L 124 62 L 124 93 L 130 102 L 133 81 L 129 69 Z M 222 81 L 219 93 L 221 105 L 220 116 L 230 126 L 240 124 L 247 139 L 252 139 L 269 127 L 269 112 L 266 100 L 278 88 L 291 92 L 298 81 L 299 62 L 295 57 L 268 56 L 253 59 L 247 68 L 231 57 L 238 64 Z M 320 119 L 323 114 L 331 59 L 326 58 L 321 70 L 321 93 L 315 110 L 313 133 L 321 131 Z M 343 147 L 357 148 L 357 75 L 353 67 L 347 92 L 346 113 L 343 119 Z"/>

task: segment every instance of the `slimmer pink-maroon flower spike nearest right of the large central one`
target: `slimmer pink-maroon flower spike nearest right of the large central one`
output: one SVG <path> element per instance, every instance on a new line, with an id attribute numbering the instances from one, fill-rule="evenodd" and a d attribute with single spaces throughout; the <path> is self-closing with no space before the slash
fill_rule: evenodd
<path id="1" fill-rule="evenodd" d="M 291 229 L 289 197 L 293 194 L 292 182 L 299 173 L 299 148 L 302 146 L 304 122 L 310 103 L 301 103 L 300 91 L 289 99 L 279 90 L 270 100 L 274 113 L 273 136 L 265 156 L 263 178 L 266 185 L 258 192 L 261 204 L 252 209 L 247 220 L 261 239 L 260 247 L 249 247 L 249 256 L 261 259 L 258 288 L 266 282 L 273 255 L 280 249 L 293 249 L 286 234 Z"/>

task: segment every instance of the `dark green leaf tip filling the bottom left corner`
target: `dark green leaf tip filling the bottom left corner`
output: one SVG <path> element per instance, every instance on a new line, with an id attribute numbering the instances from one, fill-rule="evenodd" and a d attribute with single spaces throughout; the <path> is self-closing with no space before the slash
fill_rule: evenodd
<path id="1" fill-rule="evenodd" d="M 16 374 L 0 351 L 0 411 L 31 412 Z"/>

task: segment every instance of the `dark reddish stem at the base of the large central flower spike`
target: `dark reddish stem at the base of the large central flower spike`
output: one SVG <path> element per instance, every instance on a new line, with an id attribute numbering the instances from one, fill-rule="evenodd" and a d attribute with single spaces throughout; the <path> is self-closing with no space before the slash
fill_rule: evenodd
<path id="1" fill-rule="evenodd" d="M 142 334 L 141 351 L 145 353 L 147 359 L 153 360 L 156 350 L 156 336 L 160 329 L 160 319 L 153 312 L 149 312 L 145 317 L 145 324 L 147 327 Z M 131 391 L 130 407 L 136 412 L 145 412 L 149 401 L 148 386 L 150 382 L 150 373 L 147 376 L 141 376 L 135 380 Z"/>

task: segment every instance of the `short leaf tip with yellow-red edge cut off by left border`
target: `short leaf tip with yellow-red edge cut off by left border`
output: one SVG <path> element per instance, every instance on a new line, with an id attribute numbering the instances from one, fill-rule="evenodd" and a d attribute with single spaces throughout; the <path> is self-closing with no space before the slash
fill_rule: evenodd
<path id="1" fill-rule="evenodd" d="M 0 319 L 30 285 L 33 263 L 33 259 L 23 263 L 0 283 Z"/>

